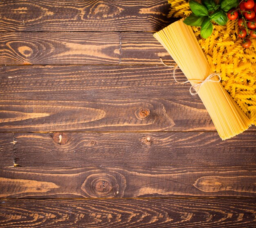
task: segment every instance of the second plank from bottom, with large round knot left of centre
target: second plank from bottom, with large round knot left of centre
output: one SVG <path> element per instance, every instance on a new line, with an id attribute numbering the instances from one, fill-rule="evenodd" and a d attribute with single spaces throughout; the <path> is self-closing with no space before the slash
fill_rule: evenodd
<path id="1" fill-rule="evenodd" d="M 256 197 L 254 167 L 0 168 L 0 197 Z"/>

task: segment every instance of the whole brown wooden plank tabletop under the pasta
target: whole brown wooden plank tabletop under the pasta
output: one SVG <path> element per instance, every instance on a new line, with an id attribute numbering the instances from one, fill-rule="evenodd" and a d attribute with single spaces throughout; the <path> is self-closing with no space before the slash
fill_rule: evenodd
<path id="1" fill-rule="evenodd" d="M 160 63 L 169 8 L 0 0 L 0 227 L 256 227 L 256 128 L 222 141 Z"/>

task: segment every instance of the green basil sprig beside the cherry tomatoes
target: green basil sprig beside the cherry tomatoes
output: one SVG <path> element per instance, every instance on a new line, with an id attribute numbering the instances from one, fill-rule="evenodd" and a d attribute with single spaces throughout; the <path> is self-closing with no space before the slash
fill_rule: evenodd
<path id="1" fill-rule="evenodd" d="M 192 14 L 184 20 L 184 23 L 201 27 L 202 38 L 208 38 L 213 31 L 212 22 L 222 26 L 226 25 L 227 11 L 238 7 L 238 4 L 239 0 L 222 0 L 220 4 L 216 4 L 214 0 L 202 0 L 202 4 L 191 0 L 189 6 Z"/>

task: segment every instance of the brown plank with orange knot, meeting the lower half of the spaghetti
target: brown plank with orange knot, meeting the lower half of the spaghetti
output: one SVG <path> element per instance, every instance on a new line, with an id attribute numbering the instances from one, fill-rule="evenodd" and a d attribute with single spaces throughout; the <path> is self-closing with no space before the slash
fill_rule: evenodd
<path id="1" fill-rule="evenodd" d="M 201 103 L 175 99 L 9 100 L 0 110 L 3 132 L 215 130 Z"/>

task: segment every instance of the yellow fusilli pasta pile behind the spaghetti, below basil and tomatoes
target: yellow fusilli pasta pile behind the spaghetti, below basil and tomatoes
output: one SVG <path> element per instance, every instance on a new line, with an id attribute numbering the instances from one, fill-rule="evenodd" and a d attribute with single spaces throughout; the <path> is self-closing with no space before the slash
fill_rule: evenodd
<path id="1" fill-rule="evenodd" d="M 171 4 L 169 17 L 184 18 L 191 14 L 186 0 L 168 0 Z M 237 20 L 227 25 L 213 26 L 209 38 L 200 36 L 200 27 L 192 27 L 213 72 L 219 73 L 222 85 L 234 98 L 252 123 L 256 124 L 256 38 L 251 47 L 244 49 L 238 32 Z"/>

